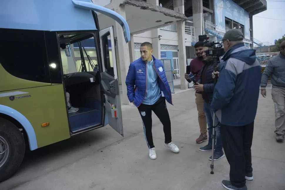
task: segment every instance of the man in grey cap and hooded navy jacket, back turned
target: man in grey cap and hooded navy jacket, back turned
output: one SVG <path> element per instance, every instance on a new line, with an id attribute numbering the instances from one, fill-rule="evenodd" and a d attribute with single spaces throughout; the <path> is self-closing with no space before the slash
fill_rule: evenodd
<path id="1" fill-rule="evenodd" d="M 261 66 L 255 50 L 244 46 L 241 31 L 228 31 L 222 41 L 224 66 L 211 103 L 221 123 L 224 152 L 230 165 L 230 181 L 223 180 L 222 185 L 229 190 L 247 190 L 245 179 L 253 179 L 251 146 Z"/>

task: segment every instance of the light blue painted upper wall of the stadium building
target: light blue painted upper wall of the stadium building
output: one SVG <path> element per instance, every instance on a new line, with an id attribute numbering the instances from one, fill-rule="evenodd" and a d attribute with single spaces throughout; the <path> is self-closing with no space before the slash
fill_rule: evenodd
<path id="1" fill-rule="evenodd" d="M 249 14 L 232 0 L 214 0 L 216 26 L 226 31 L 225 17 L 244 25 L 244 38 L 250 39 Z"/>

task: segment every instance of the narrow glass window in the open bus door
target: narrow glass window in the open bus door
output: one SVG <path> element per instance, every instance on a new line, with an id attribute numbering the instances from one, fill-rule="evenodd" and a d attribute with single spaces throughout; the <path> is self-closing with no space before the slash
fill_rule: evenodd
<path id="1" fill-rule="evenodd" d="M 113 66 L 113 55 L 112 55 L 112 47 L 111 47 L 111 41 L 108 39 L 108 37 L 105 35 L 103 37 L 103 53 L 104 53 L 104 64 L 105 64 L 105 69 L 106 72 L 111 75 L 111 76 L 115 76 L 114 75 L 114 66 Z"/>

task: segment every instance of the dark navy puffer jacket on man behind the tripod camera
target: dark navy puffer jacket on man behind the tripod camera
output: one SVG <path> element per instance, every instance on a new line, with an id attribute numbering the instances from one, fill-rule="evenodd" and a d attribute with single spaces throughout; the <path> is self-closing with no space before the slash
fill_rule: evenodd
<path id="1" fill-rule="evenodd" d="M 220 63 L 218 64 L 217 70 L 220 72 L 224 65 L 224 61 L 222 59 L 219 59 L 219 60 L 220 60 Z M 206 65 L 208 67 L 207 67 L 207 70 L 204 71 Z M 204 65 L 202 66 L 202 69 L 201 69 L 201 77 L 202 77 L 203 72 L 206 72 L 206 81 L 203 84 L 203 90 L 205 93 L 207 93 L 208 99 L 210 102 L 213 99 L 213 92 L 214 92 L 214 79 L 212 78 L 213 71 L 214 71 L 214 63 L 212 61 L 210 61 L 209 63 L 204 62 Z M 198 80 L 198 83 L 201 83 L 201 77 Z"/>

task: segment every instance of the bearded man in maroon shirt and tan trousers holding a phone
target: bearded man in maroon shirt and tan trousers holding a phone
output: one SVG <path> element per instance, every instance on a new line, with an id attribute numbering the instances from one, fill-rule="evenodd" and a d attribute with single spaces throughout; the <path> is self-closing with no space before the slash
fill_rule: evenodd
<path id="1" fill-rule="evenodd" d="M 200 78 L 200 73 L 201 73 L 201 68 L 203 66 L 203 57 L 202 57 L 202 50 L 203 50 L 203 45 L 204 42 L 197 42 L 194 46 L 195 48 L 195 53 L 197 55 L 196 58 L 194 58 L 190 62 L 190 72 L 195 75 L 195 81 L 198 81 Z M 185 79 L 188 82 L 191 82 L 188 78 L 189 73 L 185 73 Z M 199 127 L 200 127 L 200 136 L 198 139 L 196 139 L 197 143 L 201 143 L 204 141 L 207 141 L 207 121 L 206 121 L 206 116 L 204 113 L 204 100 L 202 98 L 202 93 L 197 92 L 195 93 L 196 99 L 196 106 L 197 106 L 197 111 L 198 111 L 198 122 L 199 122 Z"/>

